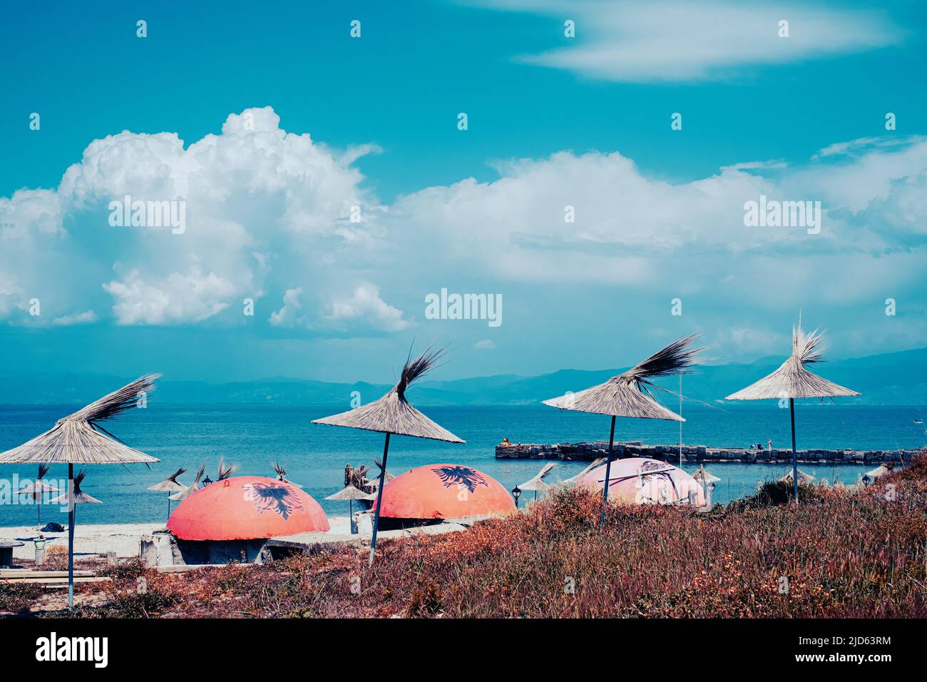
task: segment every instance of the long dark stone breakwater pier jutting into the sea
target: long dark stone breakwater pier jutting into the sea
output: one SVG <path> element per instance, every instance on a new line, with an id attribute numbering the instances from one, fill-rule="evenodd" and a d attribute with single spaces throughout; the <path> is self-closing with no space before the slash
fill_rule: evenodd
<path id="1" fill-rule="evenodd" d="M 864 462 L 908 462 L 920 450 L 799 450 L 798 461 L 805 464 L 860 464 Z M 560 459 L 592 461 L 608 454 L 608 443 L 499 444 L 497 459 Z M 679 445 L 645 445 L 640 441 L 615 444 L 613 457 L 651 457 L 673 463 L 679 461 Z M 748 462 L 783 464 L 792 462 L 792 450 L 756 450 L 740 447 L 683 445 L 686 462 Z"/>

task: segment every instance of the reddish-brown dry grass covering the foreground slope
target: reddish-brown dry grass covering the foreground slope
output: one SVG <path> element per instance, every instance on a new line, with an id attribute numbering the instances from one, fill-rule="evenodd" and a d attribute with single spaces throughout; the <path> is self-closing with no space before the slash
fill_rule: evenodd
<path id="1" fill-rule="evenodd" d="M 925 477 L 921 456 L 865 490 L 808 488 L 798 509 L 776 485 L 710 514 L 612 505 L 601 533 L 598 496 L 558 490 L 469 531 L 384 541 L 372 568 L 357 549 L 179 574 L 123 565 L 78 585 L 108 593 L 78 615 L 925 617 Z"/>

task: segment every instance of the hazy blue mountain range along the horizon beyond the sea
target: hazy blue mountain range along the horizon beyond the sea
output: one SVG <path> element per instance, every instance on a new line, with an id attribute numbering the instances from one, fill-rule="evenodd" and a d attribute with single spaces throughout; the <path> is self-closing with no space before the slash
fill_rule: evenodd
<path id="1" fill-rule="evenodd" d="M 683 379 L 683 392 L 695 400 L 717 403 L 779 367 L 784 358 L 765 357 L 754 363 L 696 367 Z M 813 367 L 822 376 L 862 393 L 840 398 L 841 405 L 927 405 L 927 348 L 834 360 Z M 537 405 L 541 400 L 578 392 L 615 376 L 617 369 L 560 369 L 537 377 L 499 374 L 459 380 L 423 380 L 413 384 L 410 400 L 416 405 Z M 119 388 L 135 377 L 102 375 L 0 376 L 0 404 L 86 404 Z M 675 391 L 678 380 L 661 384 Z M 265 380 L 207 383 L 171 381 L 158 383 L 157 400 L 165 404 L 263 404 L 349 405 L 351 392 L 363 403 L 389 390 L 387 384 L 336 383 L 274 377 Z M 664 397 L 674 401 L 672 396 Z"/>

